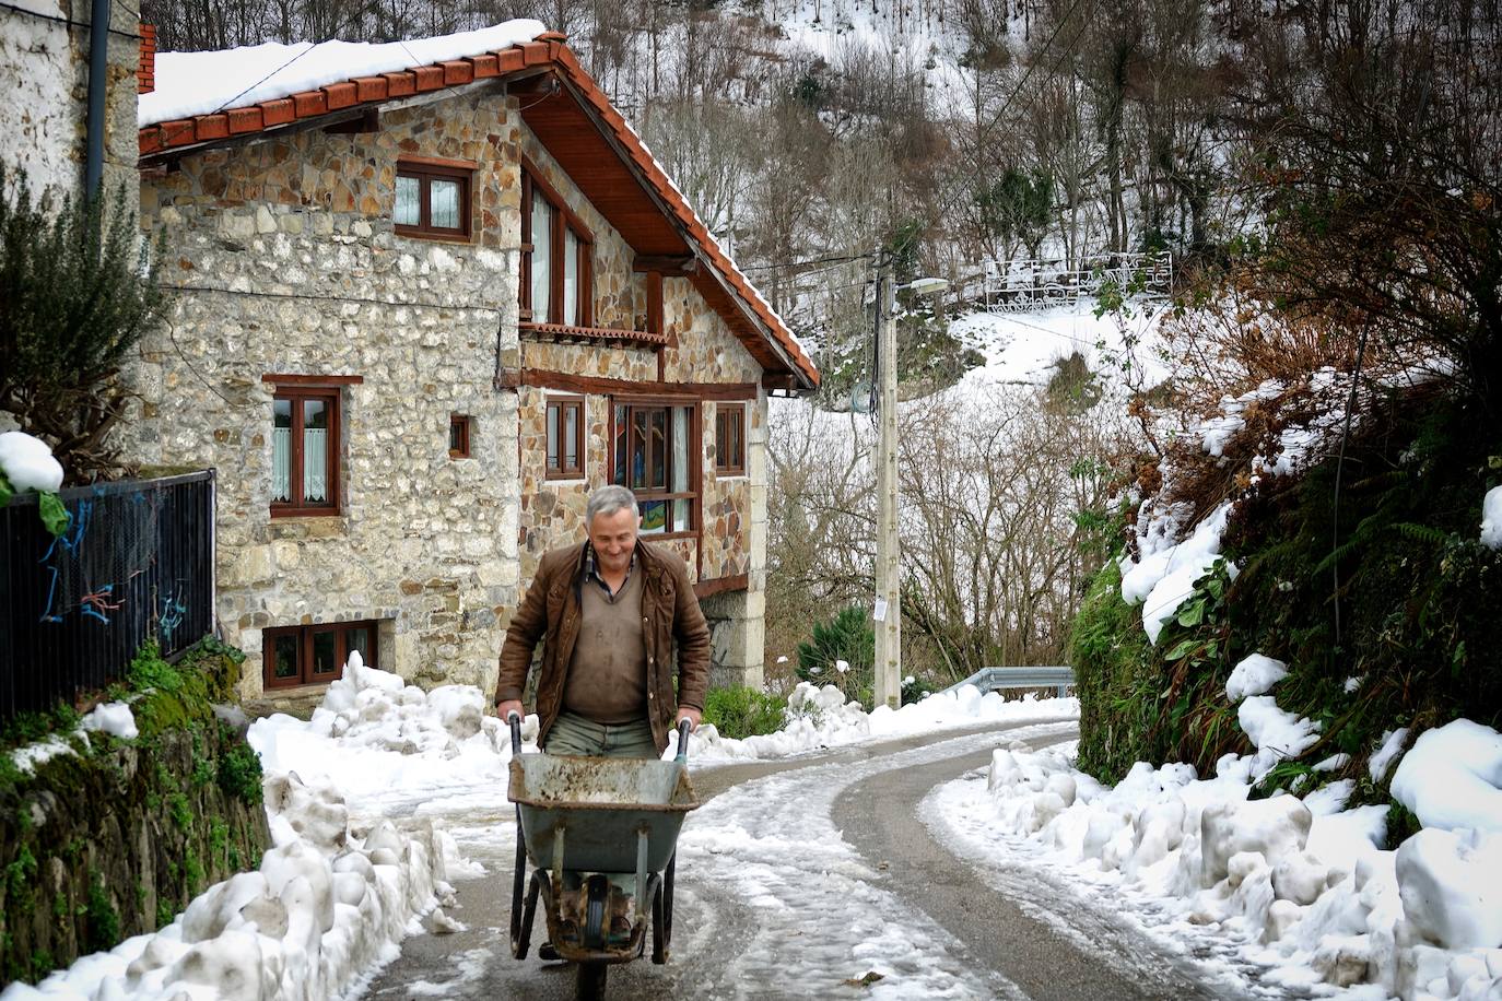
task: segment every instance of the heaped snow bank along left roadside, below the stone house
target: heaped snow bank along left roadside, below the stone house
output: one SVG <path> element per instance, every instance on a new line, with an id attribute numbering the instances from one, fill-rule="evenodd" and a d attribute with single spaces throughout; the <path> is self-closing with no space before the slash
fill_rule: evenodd
<path id="1" fill-rule="evenodd" d="M 0 998 L 314 1001 L 341 995 L 415 930 L 458 930 L 443 911 L 454 902 L 448 879 L 473 870 L 422 810 L 389 807 L 466 783 L 505 801 L 509 734 L 484 707 L 476 687 L 424 693 L 351 654 L 312 720 L 251 726 L 273 842 L 258 870 L 209 887 L 152 935 Z M 129 708 L 105 705 L 89 719 L 122 731 Z M 536 734 L 536 717 L 527 731 Z M 407 819 L 397 827 L 383 813 Z"/>

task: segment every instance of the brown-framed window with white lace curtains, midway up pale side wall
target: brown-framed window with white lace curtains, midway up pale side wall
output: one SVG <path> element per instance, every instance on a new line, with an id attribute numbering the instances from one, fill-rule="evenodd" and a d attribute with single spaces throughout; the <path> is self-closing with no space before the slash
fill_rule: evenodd
<path id="1" fill-rule="evenodd" d="M 339 390 L 279 387 L 272 399 L 272 515 L 339 513 Z"/>

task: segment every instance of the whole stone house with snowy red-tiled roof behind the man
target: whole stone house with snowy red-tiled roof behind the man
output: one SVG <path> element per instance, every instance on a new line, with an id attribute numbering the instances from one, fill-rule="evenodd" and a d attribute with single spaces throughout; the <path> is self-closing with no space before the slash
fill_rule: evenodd
<path id="1" fill-rule="evenodd" d="M 164 54 L 141 98 L 176 294 L 129 447 L 218 470 L 242 695 L 350 650 L 493 689 L 538 558 L 611 482 L 686 560 L 716 683 L 759 681 L 768 396 L 814 365 L 560 35 L 323 48 Z M 296 72 L 255 84 L 246 53 Z"/>

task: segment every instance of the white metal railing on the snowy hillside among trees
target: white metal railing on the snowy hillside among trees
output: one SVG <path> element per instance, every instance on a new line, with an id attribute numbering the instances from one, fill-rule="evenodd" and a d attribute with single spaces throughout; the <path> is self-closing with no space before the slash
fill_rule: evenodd
<path id="1" fill-rule="evenodd" d="M 1096 254 L 1074 261 L 1026 258 L 985 261 L 984 270 L 964 284 L 964 294 L 990 312 L 1021 312 L 1069 306 L 1095 299 L 1114 285 L 1146 299 L 1167 299 L 1173 291 L 1173 255 Z"/>

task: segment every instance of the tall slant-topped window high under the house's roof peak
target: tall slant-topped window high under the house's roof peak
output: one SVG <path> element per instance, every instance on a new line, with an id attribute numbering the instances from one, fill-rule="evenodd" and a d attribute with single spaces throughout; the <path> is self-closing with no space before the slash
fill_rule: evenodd
<path id="1" fill-rule="evenodd" d="M 529 323 L 587 327 L 595 239 L 527 164 L 521 171 L 521 312 Z"/>

